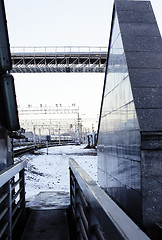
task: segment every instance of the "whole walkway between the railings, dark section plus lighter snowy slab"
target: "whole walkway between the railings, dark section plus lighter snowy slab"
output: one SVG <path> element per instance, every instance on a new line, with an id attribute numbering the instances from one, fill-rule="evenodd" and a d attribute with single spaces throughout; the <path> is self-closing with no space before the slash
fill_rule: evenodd
<path id="1" fill-rule="evenodd" d="M 59 203 L 59 199 L 62 201 Z M 59 192 L 39 193 L 30 210 L 21 240 L 69 240 L 67 194 Z"/>

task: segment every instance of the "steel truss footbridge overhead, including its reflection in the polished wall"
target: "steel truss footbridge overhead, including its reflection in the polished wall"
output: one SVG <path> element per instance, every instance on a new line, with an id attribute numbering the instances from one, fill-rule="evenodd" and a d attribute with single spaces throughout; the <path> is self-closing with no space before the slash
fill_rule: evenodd
<path id="1" fill-rule="evenodd" d="M 102 73 L 107 47 L 11 47 L 11 58 L 12 73 Z M 122 54 L 111 54 L 109 71 L 121 72 L 123 64 Z"/>

